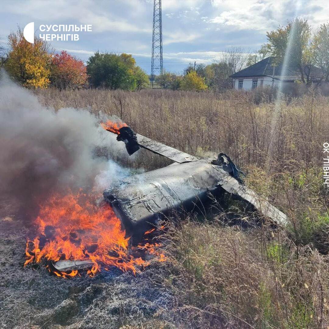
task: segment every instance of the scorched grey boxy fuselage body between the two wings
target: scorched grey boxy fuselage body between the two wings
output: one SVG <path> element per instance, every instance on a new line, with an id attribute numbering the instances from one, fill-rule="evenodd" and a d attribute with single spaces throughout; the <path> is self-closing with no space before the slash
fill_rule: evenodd
<path id="1" fill-rule="evenodd" d="M 217 188 L 219 171 L 208 161 L 171 164 L 128 177 L 104 191 L 128 234 L 149 229 L 162 215 L 193 207 Z"/>

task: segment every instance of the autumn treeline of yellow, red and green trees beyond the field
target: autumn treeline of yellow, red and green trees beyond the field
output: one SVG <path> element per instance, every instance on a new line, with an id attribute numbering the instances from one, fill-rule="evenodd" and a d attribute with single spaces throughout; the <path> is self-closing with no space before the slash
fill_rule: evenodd
<path id="1" fill-rule="evenodd" d="M 172 90 L 228 89 L 232 88 L 230 75 L 268 56 L 275 64 L 286 58 L 289 66 L 300 72 L 301 82 L 310 85 L 314 66 L 320 68 L 319 81 L 329 82 L 329 23 L 312 32 L 307 20 L 294 18 L 286 26 L 266 33 L 267 43 L 251 52 L 231 47 L 217 62 L 189 63 L 182 74 L 163 71 L 155 77 L 157 86 Z M 99 53 L 90 56 L 87 65 L 62 51 L 55 54 L 49 43 L 35 37 L 29 43 L 18 29 L 8 36 L 10 51 L 0 49 L 0 65 L 19 83 L 29 88 L 60 89 L 108 88 L 139 90 L 149 87 L 150 78 L 129 54 Z M 289 49 L 289 51 L 287 51 Z M 291 55 L 291 56 L 290 56 Z"/>

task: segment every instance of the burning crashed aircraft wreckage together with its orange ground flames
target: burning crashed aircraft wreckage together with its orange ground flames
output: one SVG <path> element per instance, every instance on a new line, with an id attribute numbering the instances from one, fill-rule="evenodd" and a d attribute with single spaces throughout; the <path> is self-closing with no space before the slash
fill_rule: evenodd
<path id="1" fill-rule="evenodd" d="M 128 240 L 133 242 L 131 245 L 150 251 L 157 255 L 160 261 L 164 260 L 164 255 L 155 251 L 157 244 L 138 243 L 144 234 L 155 230 L 165 217 L 173 213 L 182 213 L 182 210 L 189 211 L 195 204 L 205 203 L 209 199 L 209 192 L 216 194 L 218 191 L 226 191 L 247 205 L 251 205 L 259 214 L 278 225 L 287 221 L 285 214 L 243 184 L 240 179 L 240 169 L 225 154 L 220 153 L 217 159 L 198 158 L 136 134 L 124 123 L 108 121 L 102 123 L 102 126 L 116 134 L 118 141 L 125 143 L 129 155 L 144 148 L 167 157 L 174 163 L 164 168 L 130 176 L 105 190 L 104 199 L 110 208 L 103 210 L 101 215 L 98 213 L 96 217 L 90 215 L 90 209 L 85 213 L 81 213 L 82 210 L 77 212 L 75 203 L 77 197 L 72 195 L 66 197 L 66 205 L 61 207 L 71 207 L 74 209 L 74 214 L 77 213 L 76 217 L 88 219 L 88 223 L 85 223 L 86 228 L 93 228 L 89 240 L 86 240 L 85 236 L 82 237 L 83 233 L 79 236 L 78 229 L 72 235 L 72 227 L 62 225 L 61 214 L 70 211 L 69 209 L 65 208 L 65 211 L 52 209 L 43 216 L 41 213 L 37 220 L 41 227 L 41 235 L 47 235 L 45 233 L 47 226 L 43 220 L 47 217 L 53 218 L 51 225 L 60 227 L 56 229 L 60 238 L 55 242 L 47 242 L 42 248 L 39 246 L 40 238 L 28 241 L 25 264 L 39 262 L 45 257 L 52 261 L 52 272 L 63 277 L 77 275 L 78 270 L 83 268 L 89 268 L 88 274 L 93 276 L 100 270 L 99 263 L 102 263 L 105 269 L 114 265 L 121 270 L 132 270 L 135 273 L 136 265 L 145 266 L 148 262 L 129 255 Z M 87 208 L 90 207 L 92 206 L 88 201 Z M 42 211 L 47 211 L 48 208 L 44 207 Z M 78 226 L 83 231 L 84 226 L 80 221 Z M 34 249 L 29 245 L 31 242 Z"/>

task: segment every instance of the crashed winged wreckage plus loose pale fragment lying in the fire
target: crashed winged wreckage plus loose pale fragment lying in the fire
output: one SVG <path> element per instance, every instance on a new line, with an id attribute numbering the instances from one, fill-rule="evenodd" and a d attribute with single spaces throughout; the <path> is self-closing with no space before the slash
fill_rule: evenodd
<path id="1" fill-rule="evenodd" d="M 224 153 L 220 153 L 217 159 L 198 158 L 136 134 L 126 124 L 109 121 L 102 126 L 117 134 L 117 140 L 125 143 L 129 155 L 144 148 L 174 162 L 127 177 L 103 192 L 105 201 L 120 219 L 121 227 L 132 244 L 139 243 L 145 232 L 150 232 L 173 214 L 205 208 L 209 193 L 219 197 L 228 193 L 273 223 L 286 223 L 285 214 L 243 183 L 240 178 L 242 171 Z M 52 265 L 56 270 L 65 272 L 90 268 L 93 262 L 59 260 Z"/>

